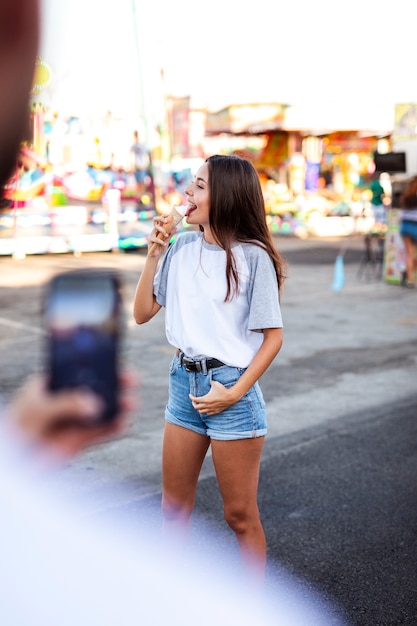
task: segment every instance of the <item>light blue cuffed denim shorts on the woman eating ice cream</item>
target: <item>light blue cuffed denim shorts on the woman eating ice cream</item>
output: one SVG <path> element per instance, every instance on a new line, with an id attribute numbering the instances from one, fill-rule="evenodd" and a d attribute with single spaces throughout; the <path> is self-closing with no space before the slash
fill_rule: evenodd
<path id="1" fill-rule="evenodd" d="M 208 370 L 207 374 L 187 372 L 175 355 L 170 365 L 166 421 L 222 441 L 266 435 L 265 402 L 257 382 L 241 400 L 217 415 L 200 415 L 188 397 L 189 393 L 204 396 L 210 391 L 212 380 L 225 387 L 232 387 L 244 371 L 239 367 L 223 365 Z"/>

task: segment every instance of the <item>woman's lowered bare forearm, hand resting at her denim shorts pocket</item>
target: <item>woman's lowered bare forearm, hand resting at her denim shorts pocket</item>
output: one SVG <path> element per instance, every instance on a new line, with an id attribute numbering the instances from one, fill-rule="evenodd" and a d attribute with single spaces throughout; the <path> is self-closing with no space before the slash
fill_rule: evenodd
<path id="1" fill-rule="evenodd" d="M 210 391 L 205 396 L 190 394 L 193 406 L 205 415 L 215 415 L 238 402 L 257 380 L 266 372 L 282 346 L 282 328 L 265 328 L 264 340 L 252 359 L 247 370 L 233 387 L 226 388 L 213 381 Z"/>

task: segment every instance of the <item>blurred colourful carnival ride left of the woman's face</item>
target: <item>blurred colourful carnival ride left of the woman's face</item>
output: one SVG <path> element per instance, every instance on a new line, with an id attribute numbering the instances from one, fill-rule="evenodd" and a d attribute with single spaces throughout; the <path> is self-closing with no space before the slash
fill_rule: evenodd
<path id="1" fill-rule="evenodd" d="M 0 255 L 141 248 L 154 215 L 129 190 L 127 173 L 87 167 L 58 176 L 23 147 L 0 203 Z"/>

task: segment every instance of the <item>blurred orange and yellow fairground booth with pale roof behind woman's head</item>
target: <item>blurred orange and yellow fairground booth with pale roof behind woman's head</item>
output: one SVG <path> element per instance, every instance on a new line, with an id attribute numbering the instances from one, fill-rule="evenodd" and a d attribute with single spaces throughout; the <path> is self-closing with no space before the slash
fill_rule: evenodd
<path id="1" fill-rule="evenodd" d="M 325 113 L 259 103 L 207 116 L 208 136 L 246 138 L 273 232 L 338 236 L 371 226 L 374 153 L 390 150 L 390 129 Z"/>

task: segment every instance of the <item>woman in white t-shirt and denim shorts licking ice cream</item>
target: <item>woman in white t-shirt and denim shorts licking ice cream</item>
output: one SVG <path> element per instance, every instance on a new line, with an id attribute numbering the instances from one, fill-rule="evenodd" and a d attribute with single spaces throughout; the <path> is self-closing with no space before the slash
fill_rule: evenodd
<path id="1" fill-rule="evenodd" d="M 155 218 L 134 301 L 138 324 L 166 308 L 167 339 L 177 349 L 162 453 L 164 528 L 189 526 L 211 445 L 225 519 L 242 563 L 263 578 L 266 542 L 257 490 L 267 424 L 258 379 L 282 344 L 278 292 L 284 263 L 249 161 L 211 156 L 185 193 L 187 223 L 199 231 L 177 239 L 155 276 L 169 240 L 166 217 Z M 155 252 L 153 242 L 159 244 Z"/>

